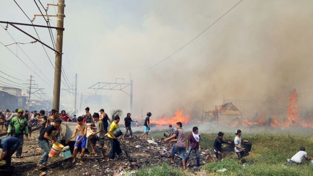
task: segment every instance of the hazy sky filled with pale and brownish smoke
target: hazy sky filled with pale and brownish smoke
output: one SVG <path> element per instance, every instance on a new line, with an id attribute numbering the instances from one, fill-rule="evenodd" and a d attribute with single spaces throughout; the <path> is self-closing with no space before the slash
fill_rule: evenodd
<path id="1" fill-rule="evenodd" d="M 16 1 L 28 17 L 40 14 L 33 0 Z M 41 2 L 45 7 L 53 3 Z M 142 108 L 156 116 L 180 109 L 196 114 L 222 104 L 223 95 L 229 99 L 284 99 L 286 93 L 282 92 L 312 88 L 312 0 L 243 0 L 178 53 L 140 72 L 188 43 L 237 2 L 66 0 L 63 67 L 67 78 L 73 82 L 77 73 L 78 93 L 86 94 L 94 93 L 88 88 L 97 82 L 125 78 L 128 83 L 132 72 L 133 112 L 140 116 Z M 55 14 L 53 6 L 48 14 Z M 55 18 L 51 20 L 52 25 L 56 24 Z M 12 0 L 0 6 L 0 21 L 30 23 Z M 34 23 L 45 25 L 39 17 Z M 20 27 L 36 37 L 32 27 Z M 48 30 L 37 31 L 41 40 L 52 46 Z M 16 42 L 33 41 L 12 26 L 8 32 Z M 55 36 L 55 30 L 53 33 Z M 0 42 L 14 43 L 2 29 Z M 54 70 L 42 45 L 20 46 L 41 71 L 16 45 L 8 47 L 53 87 Z M 54 52 L 45 49 L 54 66 Z M 32 74 L 39 87 L 52 97 L 53 89 L 3 45 L 0 53 L 3 72 L 22 80 Z M 98 94 L 111 97 L 110 109 L 129 111 L 129 96 L 123 92 L 99 90 Z M 72 101 L 62 91 L 61 103 Z M 97 111 L 100 107 L 90 108 Z"/>

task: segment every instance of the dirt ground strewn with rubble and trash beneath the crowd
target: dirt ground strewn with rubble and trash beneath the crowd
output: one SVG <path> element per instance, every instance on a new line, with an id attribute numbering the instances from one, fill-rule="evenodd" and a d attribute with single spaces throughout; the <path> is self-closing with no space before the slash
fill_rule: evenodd
<path id="1" fill-rule="evenodd" d="M 96 155 L 85 154 L 84 163 L 71 164 L 73 158 L 63 160 L 61 157 L 56 159 L 49 158 L 47 169 L 37 167 L 37 162 L 43 150 L 38 146 L 37 139 L 39 131 L 32 133 L 31 139 L 24 139 L 22 158 L 18 159 L 15 154 L 12 156 L 12 165 L 15 167 L 14 176 L 112 176 L 125 175 L 127 172 L 135 172 L 141 167 L 158 165 L 163 162 L 170 164 L 169 143 L 160 142 L 153 139 L 156 144 L 149 144 L 147 141 L 138 139 L 136 135 L 133 138 L 126 137 L 123 144 L 131 158 L 123 152 L 122 156 L 113 161 L 107 162 L 101 158 L 101 152 L 97 149 Z M 96 146 L 97 148 L 98 146 Z M 111 146 L 105 143 L 106 154 L 110 153 Z M 214 159 L 205 159 L 208 151 L 202 151 L 200 154 L 201 165 L 211 162 Z M 227 155 L 227 151 L 225 152 Z M 229 152 L 230 154 L 230 152 Z M 129 159 L 132 159 L 131 161 Z M 78 159 L 79 161 L 79 159 Z M 196 165 L 195 154 L 190 155 L 188 170 L 194 172 L 192 167 Z M 175 164 L 171 166 L 182 168 L 179 156 L 175 156 Z"/>

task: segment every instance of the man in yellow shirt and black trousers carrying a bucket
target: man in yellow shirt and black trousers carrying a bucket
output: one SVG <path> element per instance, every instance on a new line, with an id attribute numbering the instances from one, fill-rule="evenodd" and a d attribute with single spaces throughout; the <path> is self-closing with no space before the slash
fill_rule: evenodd
<path id="1" fill-rule="evenodd" d="M 121 149 L 121 147 L 119 145 L 119 142 L 118 142 L 116 136 L 113 134 L 113 131 L 115 129 L 118 129 L 118 122 L 119 122 L 119 120 L 120 120 L 119 116 L 116 115 L 114 117 L 114 121 L 110 125 L 110 130 L 108 132 L 108 137 L 109 137 L 110 142 L 111 142 L 111 151 L 110 151 L 110 154 L 108 156 L 107 161 L 110 161 L 110 160 L 114 159 L 115 153 L 117 154 L 117 156 L 120 156 L 122 154 L 122 149 Z"/>

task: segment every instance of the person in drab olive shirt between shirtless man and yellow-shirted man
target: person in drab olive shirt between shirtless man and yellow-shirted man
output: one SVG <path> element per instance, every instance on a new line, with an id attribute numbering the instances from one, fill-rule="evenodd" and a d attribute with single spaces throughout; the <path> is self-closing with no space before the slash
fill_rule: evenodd
<path id="1" fill-rule="evenodd" d="M 106 155 L 105 155 L 106 151 L 103 148 L 104 147 L 105 133 L 103 131 L 102 121 L 99 119 L 99 117 L 100 117 L 99 113 L 94 112 L 92 117 L 93 117 L 95 127 L 90 127 L 90 128 L 95 129 L 96 132 L 93 132 L 91 135 L 97 136 L 97 139 L 99 141 L 99 149 L 101 150 L 101 153 L 102 153 L 102 158 L 106 158 Z"/>

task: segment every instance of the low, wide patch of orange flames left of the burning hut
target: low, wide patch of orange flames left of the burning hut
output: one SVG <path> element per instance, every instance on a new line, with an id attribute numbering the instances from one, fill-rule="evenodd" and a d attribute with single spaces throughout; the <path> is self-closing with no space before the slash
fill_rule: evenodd
<path id="1" fill-rule="evenodd" d="M 184 110 L 177 110 L 175 112 L 175 116 L 169 117 L 163 115 L 160 119 L 154 120 L 151 119 L 151 123 L 157 125 L 168 125 L 168 124 L 176 124 L 177 122 L 181 122 L 182 124 L 187 124 L 190 120 L 190 115 L 183 115 Z"/>

